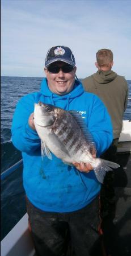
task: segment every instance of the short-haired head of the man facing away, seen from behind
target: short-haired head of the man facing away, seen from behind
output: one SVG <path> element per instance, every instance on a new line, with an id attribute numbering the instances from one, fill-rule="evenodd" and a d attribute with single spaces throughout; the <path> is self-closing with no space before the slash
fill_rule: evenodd
<path id="1" fill-rule="evenodd" d="M 113 52 L 110 49 L 100 49 L 96 52 L 96 61 L 99 67 L 108 67 L 113 61 Z"/>

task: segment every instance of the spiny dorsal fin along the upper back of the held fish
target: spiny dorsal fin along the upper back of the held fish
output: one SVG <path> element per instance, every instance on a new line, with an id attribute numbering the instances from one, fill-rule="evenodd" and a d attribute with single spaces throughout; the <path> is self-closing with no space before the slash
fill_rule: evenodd
<path id="1" fill-rule="evenodd" d="M 96 146 L 95 146 L 94 139 L 93 139 L 90 131 L 88 130 L 88 127 L 86 125 L 86 122 L 84 122 L 82 115 L 79 112 L 77 112 L 76 110 L 69 110 L 68 112 L 74 117 L 75 121 L 81 127 L 82 133 L 84 134 L 84 137 L 86 138 L 90 147 L 95 149 Z"/>

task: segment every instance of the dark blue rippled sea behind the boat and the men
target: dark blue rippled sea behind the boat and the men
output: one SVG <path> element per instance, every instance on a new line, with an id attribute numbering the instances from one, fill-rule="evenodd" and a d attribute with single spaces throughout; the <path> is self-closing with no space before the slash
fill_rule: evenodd
<path id="1" fill-rule="evenodd" d="M 1 77 L 1 173 L 22 159 L 11 142 L 11 123 L 17 102 L 28 93 L 40 90 L 42 77 Z M 82 80 L 82 79 L 80 79 Z M 131 120 L 131 80 L 128 106 L 123 119 Z M 26 213 L 22 166 L 1 181 L 1 240 Z"/>

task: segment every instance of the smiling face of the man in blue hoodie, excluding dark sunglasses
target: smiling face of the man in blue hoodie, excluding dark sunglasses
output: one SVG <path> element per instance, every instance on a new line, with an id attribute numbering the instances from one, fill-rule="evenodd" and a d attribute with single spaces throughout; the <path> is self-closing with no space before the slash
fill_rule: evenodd
<path id="1" fill-rule="evenodd" d="M 67 67 L 67 63 L 63 61 L 56 61 L 53 64 L 50 64 L 50 67 Z M 65 73 L 60 69 L 58 73 L 53 73 L 48 70 L 48 68 L 45 68 L 45 75 L 47 76 L 48 80 L 48 86 L 49 89 L 58 95 L 64 95 L 73 89 L 74 81 L 75 81 L 75 72 L 76 67 L 73 68 L 72 71 Z"/>

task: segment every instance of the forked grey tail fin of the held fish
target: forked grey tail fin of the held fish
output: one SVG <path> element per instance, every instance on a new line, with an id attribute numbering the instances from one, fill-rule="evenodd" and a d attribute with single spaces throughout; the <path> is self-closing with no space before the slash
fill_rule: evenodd
<path id="1" fill-rule="evenodd" d="M 98 179 L 98 181 L 100 183 L 103 183 L 104 176 L 105 176 L 106 172 L 112 171 L 112 168 L 116 169 L 119 167 L 120 166 L 117 163 L 98 158 L 98 159 L 96 159 L 94 172 L 95 172 L 95 175 L 96 175 L 96 178 Z"/>

